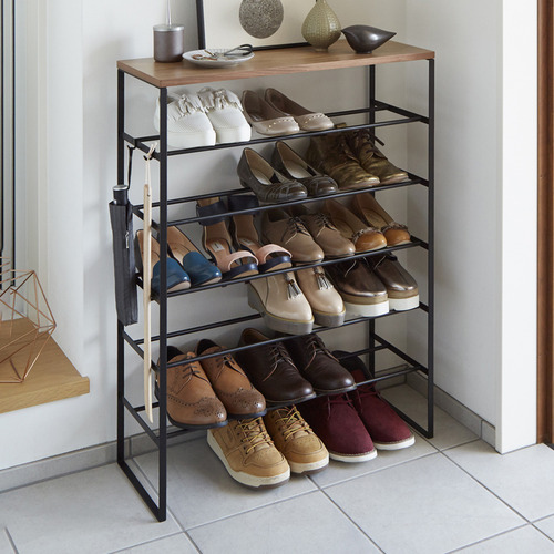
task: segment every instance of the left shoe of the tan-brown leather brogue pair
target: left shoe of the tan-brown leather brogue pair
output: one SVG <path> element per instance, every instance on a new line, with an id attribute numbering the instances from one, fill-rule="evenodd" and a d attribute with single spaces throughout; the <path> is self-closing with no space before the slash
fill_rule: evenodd
<path id="1" fill-rule="evenodd" d="M 193 352 L 167 347 L 167 362 L 183 365 L 167 369 L 167 418 L 177 427 L 208 429 L 227 424 L 227 412 L 215 396 L 208 378 Z M 156 397 L 160 390 L 156 380 Z"/>

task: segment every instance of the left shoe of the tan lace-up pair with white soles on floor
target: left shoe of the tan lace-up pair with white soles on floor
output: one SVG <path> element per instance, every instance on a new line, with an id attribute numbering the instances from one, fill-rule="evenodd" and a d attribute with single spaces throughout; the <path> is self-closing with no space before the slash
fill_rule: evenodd
<path id="1" fill-rule="evenodd" d="M 290 478 L 287 460 L 275 448 L 261 418 L 232 420 L 225 428 L 209 429 L 207 442 L 229 475 L 246 486 L 270 489 Z"/>

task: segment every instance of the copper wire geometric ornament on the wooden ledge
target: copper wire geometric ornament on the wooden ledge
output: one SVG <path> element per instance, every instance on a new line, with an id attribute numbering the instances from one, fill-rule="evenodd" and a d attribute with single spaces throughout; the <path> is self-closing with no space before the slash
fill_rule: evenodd
<path id="1" fill-rule="evenodd" d="M 21 383 L 31 372 L 55 321 L 34 271 L 9 269 L 0 258 L 0 367 L 9 365 L 12 379 L 0 383 Z"/>

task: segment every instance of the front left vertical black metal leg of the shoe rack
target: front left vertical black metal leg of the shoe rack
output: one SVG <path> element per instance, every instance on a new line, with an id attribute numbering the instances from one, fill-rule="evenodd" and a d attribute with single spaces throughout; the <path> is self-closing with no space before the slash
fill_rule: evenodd
<path id="1" fill-rule="evenodd" d="M 167 258 L 167 89 L 160 89 L 160 259 Z M 167 517 L 167 267 L 160 267 L 158 521 Z"/>

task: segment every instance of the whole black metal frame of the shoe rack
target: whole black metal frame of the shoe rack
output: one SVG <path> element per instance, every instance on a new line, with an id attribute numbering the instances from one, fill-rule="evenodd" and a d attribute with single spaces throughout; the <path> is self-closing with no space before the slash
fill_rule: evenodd
<path id="1" fill-rule="evenodd" d="M 422 178 L 417 175 L 410 174 L 410 181 L 396 184 L 396 185 L 386 185 L 386 186 L 377 186 L 368 188 L 369 192 L 379 192 L 391 189 L 396 187 L 404 187 L 404 186 L 413 186 L 421 185 L 428 189 L 428 240 L 423 242 L 419 238 L 412 237 L 412 240 L 408 245 L 397 246 L 397 247 L 388 247 L 378 250 L 377 253 L 369 254 L 360 254 L 352 256 L 349 259 L 355 259 L 358 257 L 367 257 L 372 255 L 382 255 L 387 252 L 396 252 L 399 249 L 406 248 L 423 248 L 428 253 L 428 304 L 420 304 L 418 308 L 414 310 L 422 310 L 428 316 L 428 351 L 427 351 L 427 366 L 418 362 L 406 352 L 397 348 L 394 345 L 386 340 L 383 337 L 376 332 L 376 320 L 381 317 L 390 317 L 393 316 L 394 311 L 380 316 L 378 318 L 368 318 L 360 317 L 356 319 L 347 320 L 343 326 L 356 325 L 360 322 L 368 324 L 368 348 L 361 349 L 357 352 L 353 352 L 349 356 L 359 356 L 363 353 L 369 355 L 369 376 L 366 381 L 359 384 L 373 383 L 377 381 L 381 381 L 384 379 L 390 379 L 392 377 L 404 376 L 414 371 L 420 371 L 424 373 L 428 378 L 428 420 L 427 428 L 423 428 L 407 414 L 400 412 L 402 418 L 408 421 L 414 429 L 417 429 L 420 433 L 422 433 L 427 438 L 431 438 L 433 435 L 433 327 L 434 327 L 434 295 L 433 295 L 433 284 L 434 284 L 434 60 L 427 60 L 429 62 L 429 90 L 428 90 L 428 115 L 420 115 L 413 112 L 409 112 L 407 110 L 400 109 L 398 106 L 393 106 L 391 104 L 387 104 L 384 102 L 380 102 L 376 99 L 376 66 L 369 66 L 369 107 L 361 110 L 350 110 L 342 112 L 335 112 L 329 115 L 339 116 L 339 115 L 350 115 L 357 113 L 367 113 L 368 114 L 368 123 L 360 125 L 352 125 L 348 129 L 370 129 L 375 131 L 375 129 L 380 126 L 388 125 L 397 125 L 403 123 L 412 123 L 412 122 L 422 122 L 428 125 L 428 178 Z M 279 137 L 271 138 L 256 138 L 249 142 L 244 143 L 234 143 L 234 144 L 217 144 L 215 146 L 205 146 L 205 147 L 196 147 L 188 148 L 183 151 L 171 151 L 167 150 L 167 89 L 160 89 L 160 135 L 155 136 L 144 136 L 144 137 L 133 137 L 125 132 L 125 86 L 124 86 L 125 72 L 122 70 L 117 70 L 117 183 L 122 184 L 124 182 L 124 171 L 125 171 L 125 161 L 124 161 L 124 143 L 129 142 L 133 146 L 136 146 L 141 151 L 147 153 L 150 150 L 150 145 L 146 144 L 147 141 L 160 141 L 160 151 L 154 153 L 152 157 L 160 162 L 160 202 L 154 203 L 154 207 L 158 211 L 158 219 L 153 220 L 153 227 L 158 232 L 158 240 L 160 240 L 160 256 L 161 259 L 165 259 L 167 254 L 167 226 L 168 225 L 184 225 L 201 222 L 207 217 L 189 217 L 185 219 L 178 220 L 167 220 L 167 206 L 174 204 L 184 204 L 188 202 L 195 202 L 198 198 L 206 198 L 211 196 L 226 196 L 230 194 L 239 194 L 245 193 L 245 189 L 234 189 L 226 192 L 215 192 L 212 194 L 204 194 L 198 196 L 189 196 L 183 198 L 176 198 L 170 201 L 167 198 L 167 164 L 168 158 L 173 155 L 186 154 L 193 152 L 205 152 L 219 148 L 230 148 L 230 147 L 239 147 L 252 144 L 260 144 L 266 142 L 275 142 Z M 402 119 L 389 120 L 386 122 L 376 122 L 376 112 L 378 111 L 389 111 L 397 115 L 401 115 Z M 295 138 L 295 137 L 306 137 L 307 135 L 318 135 L 318 134 L 327 134 L 343 131 L 341 130 L 330 130 L 325 132 L 317 133 L 301 133 L 297 135 L 287 135 L 285 138 Z M 360 191 L 351 191 L 343 192 L 334 195 L 334 197 L 341 196 L 350 196 L 353 194 L 359 194 Z M 279 204 L 280 206 L 289 206 L 294 204 L 305 204 L 309 202 L 317 202 L 319 198 L 307 198 L 304 201 L 289 202 Z M 260 212 L 264 209 L 269 209 L 273 206 L 260 206 L 258 208 L 243 209 L 240 212 L 234 212 L 234 214 L 246 214 L 252 212 Z M 135 206 L 134 213 L 137 217 L 143 217 L 143 206 Z M 226 215 L 230 215 L 227 213 Z M 301 268 L 306 267 L 317 267 L 325 266 L 328 264 L 336 264 L 340 260 L 325 260 L 318 264 L 311 264 L 309 266 L 301 266 Z M 295 271 L 299 268 L 284 269 L 276 273 L 285 273 L 285 271 Z M 167 514 L 167 439 L 171 437 L 175 437 L 182 433 L 188 432 L 187 430 L 178 430 L 175 432 L 167 432 L 167 406 L 166 406 L 166 373 L 167 369 L 176 367 L 179 362 L 167 363 L 167 340 L 176 337 L 183 337 L 186 335 L 192 335 L 195 332 L 207 331 L 211 329 L 216 329 L 219 327 L 244 324 L 247 321 L 252 321 L 261 317 L 259 314 L 249 315 L 244 317 L 238 317 L 234 319 L 229 319 L 226 321 L 218 321 L 209 325 L 192 327 L 187 329 L 182 329 L 177 331 L 167 332 L 167 300 L 174 296 L 182 296 L 187 294 L 194 294 L 202 290 L 208 290 L 211 288 L 220 288 L 226 286 L 234 286 L 238 283 L 244 283 L 247 280 L 253 280 L 257 278 L 263 278 L 264 275 L 258 275 L 254 277 L 239 278 L 234 279 L 232 281 L 223 281 L 215 285 L 203 286 L 198 288 L 189 288 L 187 290 L 181 293 L 172 293 L 168 294 L 166 289 L 166 266 L 165 264 L 161 265 L 161 290 L 160 295 L 155 298 L 155 300 L 160 304 L 160 335 L 152 337 L 153 341 L 160 342 L 160 360 L 157 363 L 152 362 L 152 368 L 157 372 L 158 376 L 158 388 L 160 388 L 160 399 L 158 402 L 153 406 L 158 408 L 158 419 L 160 425 L 157 433 L 151 429 L 148 423 L 142 418 L 141 413 L 145 410 L 144 406 L 132 406 L 132 403 L 125 398 L 125 343 L 131 346 L 131 348 L 141 357 L 144 357 L 144 351 L 141 348 L 141 345 L 144 342 L 144 339 L 135 339 L 131 337 L 126 331 L 121 321 L 117 321 L 117 463 L 127 475 L 130 481 L 133 483 L 134 488 L 137 490 L 140 495 L 143 497 L 144 502 L 147 504 L 153 514 L 157 517 L 158 521 L 165 521 Z M 137 283 L 141 285 L 141 279 L 137 277 Z M 406 314 L 404 311 L 398 314 Z M 343 327 L 342 326 L 342 327 Z M 314 332 L 325 332 L 331 328 L 321 327 L 314 329 Z M 278 341 L 286 341 L 293 337 L 279 337 L 275 339 L 269 339 L 263 343 L 273 343 Z M 203 360 L 206 358 L 212 358 L 215 356 L 222 356 L 222 353 L 233 353 L 244 349 L 253 348 L 258 345 L 244 346 L 237 348 L 229 348 L 222 352 L 216 352 L 212 355 L 203 355 L 197 356 L 194 360 Z M 392 368 L 380 370 L 379 373 L 376 372 L 376 363 L 375 363 L 375 355 L 380 350 L 389 350 L 397 355 L 400 359 L 402 359 L 407 367 L 404 368 Z M 136 474 L 130 468 L 125 460 L 125 451 L 124 451 L 124 441 L 125 441 L 125 411 L 129 411 L 133 418 L 138 422 L 142 429 L 146 432 L 146 434 L 153 440 L 153 442 L 157 447 L 158 451 L 158 490 L 157 490 L 157 503 L 153 499 L 153 496 L 148 493 L 145 486 L 137 479 Z"/>

